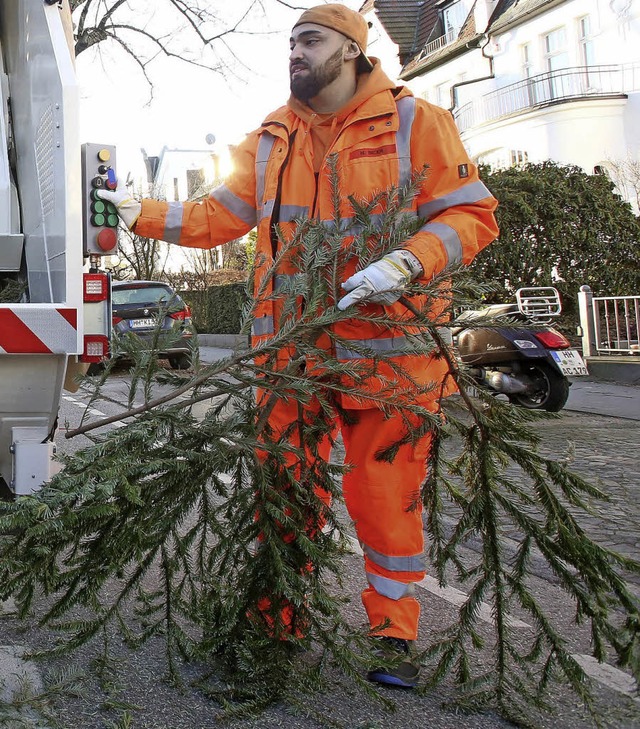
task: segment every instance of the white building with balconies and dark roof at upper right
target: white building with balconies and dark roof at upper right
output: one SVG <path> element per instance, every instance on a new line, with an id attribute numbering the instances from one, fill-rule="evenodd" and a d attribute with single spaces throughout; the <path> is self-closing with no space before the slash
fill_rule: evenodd
<path id="1" fill-rule="evenodd" d="M 621 182 L 620 169 L 640 169 L 640 0 L 368 5 L 400 40 L 400 78 L 451 109 L 475 161 L 553 160 L 607 172 L 637 204 L 640 186 Z M 419 47 L 407 48 L 394 26 L 398 5 L 420 8 Z"/>

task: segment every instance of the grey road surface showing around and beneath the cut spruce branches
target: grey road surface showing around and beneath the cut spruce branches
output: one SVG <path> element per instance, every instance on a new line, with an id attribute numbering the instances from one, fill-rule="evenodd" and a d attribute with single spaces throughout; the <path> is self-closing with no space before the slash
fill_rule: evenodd
<path id="1" fill-rule="evenodd" d="M 228 350 L 202 348 L 202 358 L 212 361 Z M 124 376 L 109 383 L 109 394 L 124 393 Z M 65 396 L 60 422 L 73 425 L 86 407 L 86 395 L 79 392 Z M 93 406 L 90 417 L 100 418 L 116 412 L 114 405 L 101 402 Z M 576 381 L 571 389 L 567 408 L 558 418 L 537 425 L 546 452 L 571 461 L 574 470 L 600 485 L 611 497 L 598 513 L 590 517 L 585 528 L 597 541 L 613 547 L 628 556 L 640 559 L 640 388 L 617 386 L 593 381 Z M 83 438 L 61 440 L 61 449 L 81 447 Z M 337 454 L 339 457 L 339 453 Z M 345 591 L 349 600 L 350 616 L 354 626 L 364 623 L 359 591 L 363 586 L 361 557 L 357 543 L 353 553 L 345 557 Z M 477 556 L 473 544 L 468 548 L 468 559 Z M 603 726 L 632 729 L 640 727 L 640 702 L 633 695 L 635 686 L 630 677 L 611 664 L 598 665 L 589 659 L 590 636 L 588 630 L 572 625 L 573 611 L 562 588 L 542 561 L 534 563 L 532 590 L 543 600 L 549 614 L 564 631 L 571 652 L 593 677 L 596 707 Z M 640 585 L 632 583 L 640 594 Z M 418 590 L 422 605 L 423 634 L 426 644 L 430 634 L 455 620 L 457 606 L 464 600 L 468 587 L 452 579 L 446 588 L 427 577 Z M 51 644 L 52 635 L 39 628 L 34 620 L 20 624 L 11 614 L 11 605 L 0 618 L 0 676 L 4 674 L 4 689 L 0 699 L 11 699 L 16 677 L 26 675 L 33 681 L 34 690 L 49 680 L 53 668 L 75 667 L 87 676 L 83 693 L 78 697 L 50 697 L 49 708 L 57 726 L 64 729 L 102 729 L 103 727 L 131 726 L 135 729 L 209 729 L 219 726 L 219 708 L 188 685 L 176 689 L 163 681 L 163 655 L 159 644 L 151 644 L 140 653 L 122 649 L 119 659 L 120 674 L 117 686 L 109 695 L 100 686 L 90 667 L 93 651 L 81 649 L 73 659 L 43 665 L 24 660 L 24 650 Z M 490 609 L 481 609 L 487 631 L 492 626 Z M 515 615 L 514 630 L 523 639 L 531 632 L 530 619 Z M 489 633 L 487 633 L 489 635 Z M 488 655 L 488 654 L 487 654 Z M 487 656 L 485 656 L 487 657 Z M 480 657 L 482 660 L 482 656 Z M 426 695 L 381 689 L 391 698 L 396 710 L 389 712 L 362 693 L 344 676 L 330 672 L 330 691 L 306 700 L 305 711 L 292 711 L 290 707 L 276 705 L 255 720 L 236 720 L 228 726 L 240 728 L 287 727 L 316 729 L 328 726 L 328 720 L 349 729 L 489 729 L 510 726 L 498 716 L 488 714 L 460 715 L 443 706 L 451 697 L 451 686 L 445 684 Z M 549 700 L 553 712 L 539 721 L 542 727 L 582 729 L 592 726 L 584 707 L 576 697 L 563 688 L 554 690 Z M 132 723 L 117 724 L 123 717 L 125 706 L 131 706 Z M 53 721 L 41 724 L 3 723 L 3 705 L 0 703 L 0 726 L 51 726 Z M 31 711 L 31 713 L 29 713 Z M 29 707 L 23 717 L 36 720 Z M 111 722 L 111 723 L 110 723 Z"/>

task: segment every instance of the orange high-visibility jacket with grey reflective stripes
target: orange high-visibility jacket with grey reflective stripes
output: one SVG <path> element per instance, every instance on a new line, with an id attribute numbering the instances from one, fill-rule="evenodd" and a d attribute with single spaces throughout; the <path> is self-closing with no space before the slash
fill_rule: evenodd
<path id="1" fill-rule="evenodd" d="M 379 65 L 372 74 L 386 79 Z M 414 212 L 426 222 L 403 247 L 418 258 L 427 281 L 449 264 L 470 263 L 498 233 L 493 216 L 497 201 L 478 179 L 451 114 L 386 81 L 375 86 L 374 93 L 347 116 L 317 177 L 308 124 L 291 108 L 282 107 L 237 148 L 233 175 L 208 199 L 200 203 L 145 199 L 135 232 L 181 246 L 211 248 L 257 226 L 258 286 L 262 272 L 273 261 L 274 223 L 285 234 L 293 230 L 293 221 L 301 217 L 314 217 L 333 225 L 327 159 L 329 154 L 335 154 L 343 219 L 353 216 L 347 195 L 369 199 L 391 186 L 409 183 L 416 170 L 428 165 L 426 179 L 413 201 Z M 276 282 L 281 276 L 296 273 L 292 262 L 283 264 L 282 269 Z M 354 261 L 347 275 L 356 269 Z M 363 306 L 368 310 L 378 307 Z M 385 308 L 396 318 L 406 318 L 406 310 L 399 303 Z M 274 302 L 260 304 L 252 329 L 254 343 L 273 335 L 277 326 Z M 339 360 L 360 359 L 362 344 L 358 343 L 364 342 L 365 348 L 384 356 L 377 369 L 382 379 L 371 378 L 370 392 L 380 388 L 385 377 L 397 381 L 397 374 L 388 364 L 391 359 L 414 380 L 414 384 L 398 383 L 399 390 L 406 391 L 404 386 L 408 386 L 413 402 L 420 402 L 423 395 L 432 399 L 433 394 L 419 392 L 420 385 L 440 381 L 446 365 L 443 360 L 424 355 L 403 354 L 403 343 L 407 344 L 405 333 L 406 330 L 394 331 L 357 318 L 342 321 L 335 325 L 340 344 L 333 354 Z M 350 346 L 350 342 L 354 344 Z M 327 337 L 327 347 L 332 346 Z M 282 353 L 283 363 L 289 355 Z M 347 395 L 342 396 L 342 405 L 372 407 L 367 401 Z"/>

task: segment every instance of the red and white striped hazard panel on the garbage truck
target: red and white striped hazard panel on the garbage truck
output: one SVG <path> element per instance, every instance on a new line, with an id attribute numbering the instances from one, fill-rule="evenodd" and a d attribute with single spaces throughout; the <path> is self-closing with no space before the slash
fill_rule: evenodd
<path id="1" fill-rule="evenodd" d="M 34 306 L 33 304 L 31 306 Z M 76 354 L 78 311 L 0 308 L 0 354 Z"/>

